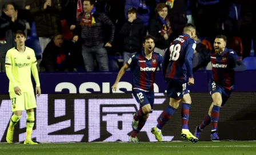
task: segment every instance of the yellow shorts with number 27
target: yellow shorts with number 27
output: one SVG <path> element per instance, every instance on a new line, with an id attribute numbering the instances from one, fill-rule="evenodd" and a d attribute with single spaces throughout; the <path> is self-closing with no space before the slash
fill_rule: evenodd
<path id="1" fill-rule="evenodd" d="M 37 108 L 34 92 L 22 92 L 21 95 L 16 95 L 15 92 L 9 92 L 11 98 L 11 111 L 24 111 L 25 109 Z"/>

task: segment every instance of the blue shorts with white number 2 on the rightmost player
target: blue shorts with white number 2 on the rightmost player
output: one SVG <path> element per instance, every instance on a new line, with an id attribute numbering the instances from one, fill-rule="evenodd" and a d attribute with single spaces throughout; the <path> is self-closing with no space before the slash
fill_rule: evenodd
<path id="1" fill-rule="evenodd" d="M 213 95 L 213 93 L 215 93 L 215 92 L 221 93 L 221 97 L 222 97 L 221 107 L 223 107 L 223 105 L 225 105 L 226 101 L 229 99 L 229 97 L 233 91 L 233 90 L 229 90 L 229 89 L 220 87 L 214 81 L 209 82 L 208 89 L 209 89 L 210 95 Z"/>

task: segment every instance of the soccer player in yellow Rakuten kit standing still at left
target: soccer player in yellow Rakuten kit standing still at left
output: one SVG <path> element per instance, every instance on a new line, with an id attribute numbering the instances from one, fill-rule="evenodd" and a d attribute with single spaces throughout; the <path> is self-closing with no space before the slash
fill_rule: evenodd
<path id="1" fill-rule="evenodd" d="M 17 31 L 14 35 L 17 46 L 7 51 L 5 59 L 6 75 L 9 78 L 9 93 L 11 98 L 10 125 L 7 130 L 6 141 L 13 142 L 14 125 L 21 118 L 22 111 L 27 111 L 26 140 L 24 144 L 37 144 L 31 140 L 31 133 L 34 126 L 35 103 L 34 88 L 31 81 L 31 71 L 35 79 L 35 92 L 40 96 L 41 88 L 37 71 L 37 59 L 35 52 L 29 47 L 25 47 L 26 36 L 23 31 Z"/>

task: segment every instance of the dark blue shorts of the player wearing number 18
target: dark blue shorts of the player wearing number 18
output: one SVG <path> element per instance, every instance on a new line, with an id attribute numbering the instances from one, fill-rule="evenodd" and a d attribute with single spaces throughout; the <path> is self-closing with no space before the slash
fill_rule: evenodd
<path id="1" fill-rule="evenodd" d="M 167 95 L 173 99 L 182 99 L 183 95 L 189 93 L 186 80 L 166 79 Z"/>

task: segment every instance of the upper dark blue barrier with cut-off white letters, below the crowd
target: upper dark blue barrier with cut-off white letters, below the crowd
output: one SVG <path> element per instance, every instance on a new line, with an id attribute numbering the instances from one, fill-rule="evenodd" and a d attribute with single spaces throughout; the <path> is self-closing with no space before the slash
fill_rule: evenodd
<path id="1" fill-rule="evenodd" d="M 112 92 L 111 86 L 117 78 L 117 72 L 84 73 L 40 73 L 42 93 L 125 93 L 131 92 L 133 74 L 126 72 L 118 84 L 118 91 Z M 208 92 L 211 71 L 197 71 L 194 74 L 195 85 L 189 86 L 190 92 Z M 256 92 L 256 71 L 237 72 L 234 92 Z M 8 94 L 9 80 L 6 74 L 0 74 L 0 94 Z M 155 75 L 155 92 L 166 90 L 165 79 L 159 71 Z"/>

